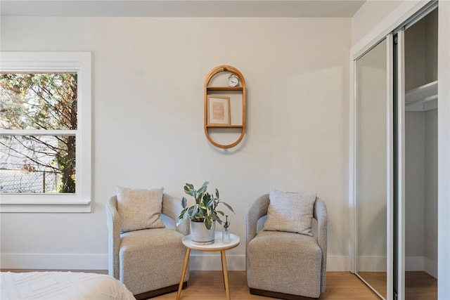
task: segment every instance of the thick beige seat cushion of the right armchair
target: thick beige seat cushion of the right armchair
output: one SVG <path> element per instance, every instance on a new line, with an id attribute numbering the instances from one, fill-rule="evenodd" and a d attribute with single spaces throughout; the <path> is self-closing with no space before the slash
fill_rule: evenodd
<path id="1" fill-rule="evenodd" d="M 321 260 L 315 237 L 261 231 L 248 243 L 248 286 L 317 298 L 321 294 Z"/>

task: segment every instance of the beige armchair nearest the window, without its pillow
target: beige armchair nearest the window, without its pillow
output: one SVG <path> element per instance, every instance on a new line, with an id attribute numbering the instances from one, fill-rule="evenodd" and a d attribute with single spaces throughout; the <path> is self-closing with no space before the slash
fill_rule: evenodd
<path id="1" fill-rule="evenodd" d="M 181 203 L 162 196 L 162 214 L 176 220 Z M 117 196 L 106 203 L 108 225 L 108 273 L 120 280 L 136 299 L 175 292 L 184 266 L 186 247 L 181 239 L 189 232 L 188 223 L 176 230 L 154 228 L 120 232 L 121 216 Z M 186 274 L 184 287 L 189 274 Z"/>

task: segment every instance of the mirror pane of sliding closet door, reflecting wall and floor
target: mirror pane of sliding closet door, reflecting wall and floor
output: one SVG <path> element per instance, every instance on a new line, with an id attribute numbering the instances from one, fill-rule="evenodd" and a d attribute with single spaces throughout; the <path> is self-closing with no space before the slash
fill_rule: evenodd
<path id="1" fill-rule="evenodd" d="M 356 273 L 386 299 L 387 42 L 356 61 Z"/>

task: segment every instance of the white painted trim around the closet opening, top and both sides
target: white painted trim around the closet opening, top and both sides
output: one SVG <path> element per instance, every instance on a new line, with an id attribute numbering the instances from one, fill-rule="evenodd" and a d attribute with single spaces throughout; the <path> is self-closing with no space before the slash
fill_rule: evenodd
<path id="1" fill-rule="evenodd" d="M 404 1 L 397 8 L 380 20 L 364 38 L 361 38 L 350 50 L 349 57 L 349 91 L 354 91 L 354 60 L 373 45 L 377 44 L 390 32 L 394 32 L 401 24 L 416 14 L 431 0 Z M 438 24 L 438 297 L 450 299 L 450 285 L 444 280 L 450 278 L 450 219 L 446 214 L 450 211 L 450 1 L 439 1 Z M 349 270 L 355 272 L 356 247 L 356 203 L 355 203 L 355 126 L 354 93 L 350 93 L 349 103 L 349 226 L 352 228 L 349 237 Z"/>

